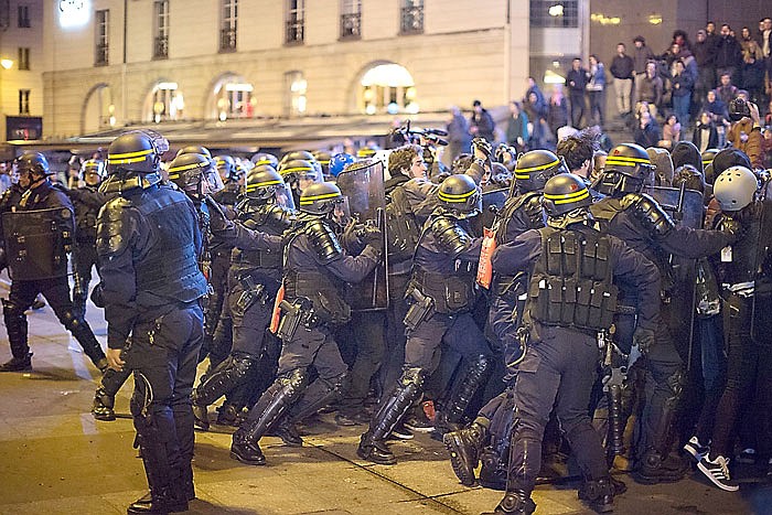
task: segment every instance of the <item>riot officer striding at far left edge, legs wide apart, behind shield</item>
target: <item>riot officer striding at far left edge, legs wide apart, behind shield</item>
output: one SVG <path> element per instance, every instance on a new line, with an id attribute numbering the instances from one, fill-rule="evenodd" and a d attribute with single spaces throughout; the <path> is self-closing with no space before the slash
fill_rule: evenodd
<path id="1" fill-rule="evenodd" d="M 83 313 L 77 313 L 73 309 L 69 297 L 66 253 L 69 251 L 69 247 L 73 244 L 72 238 L 75 232 L 72 218 L 73 204 L 64 191 L 52 184 L 47 179 L 50 174 L 49 163 L 43 154 L 39 152 L 24 153 L 17 160 L 17 167 L 19 173 L 30 173 L 32 187 L 25 189 L 20 196 L 13 195 L 13 193 L 10 194 L 9 201 L 12 201 L 12 204 L 8 207 L 11 212 L 64 210 L 64 213 L 67 213 L 67 215 L 62 216 L 55 223 L 56 234 L 51 235 L 51 239 L 54 240 L 54 248 L 50 249 L 41 250 L 39 248 L 33 251 L 33 249 L 22 250 L 19 248 L 20 254 L 11 256 L 10 239 L 17 238 L 17 236 L 10 232 L 9 227 L 4 228 L 6 253 L 8 253 L 7 259 L 12 275 L 14 260 L 23 260 L 23 256 L 34 258 L 37 251 L 49 253 L 50 255 L 40 256 L 40 258 L 46 264 L 54 262 L 54 266 L 51 270 L 47 270 L 47 273 L 44 273 L 47 276 L 46 278 L 24 280 L 21 277 L 17 277 L 12 280 L 8 300 L 3 301 L 3 318 L 13 357 L 0 366 L 0 372 L 13 372 L 31 367 L 32 354 L 28 345 L 28 323 L 24 311 L 32 305 L 37 293 L 43 293 L 60 322 L 75 336 L 92 362 L 100 371 L 104 371 L 107 368 L 105 353 L 94 336 L 92 328 L 83 318 Z M 6 213 L 3 219 L 6 219 L 6 216 L 12 215 L 11 213 Z M 17 227 L 17 230 L 22 235 L 25 232 L 39 229 L 40 227 Z M 19 243 L 18 246 L 23 247 L 23 239 L 17 239 L 17 242 Z"/>

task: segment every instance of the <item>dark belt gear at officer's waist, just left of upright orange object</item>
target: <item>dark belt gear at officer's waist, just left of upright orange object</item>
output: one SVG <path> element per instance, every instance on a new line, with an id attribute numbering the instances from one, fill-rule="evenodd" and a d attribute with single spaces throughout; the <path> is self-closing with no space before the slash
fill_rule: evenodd
<path id="1" fill-rule="evenodd" d="M 440 314 L 458 314 L 470 311 L 475 298 L 472 275 L 446 276 L 416 270 L 410 282 L 423 296 L 432 299 L 435 312 Z"/>

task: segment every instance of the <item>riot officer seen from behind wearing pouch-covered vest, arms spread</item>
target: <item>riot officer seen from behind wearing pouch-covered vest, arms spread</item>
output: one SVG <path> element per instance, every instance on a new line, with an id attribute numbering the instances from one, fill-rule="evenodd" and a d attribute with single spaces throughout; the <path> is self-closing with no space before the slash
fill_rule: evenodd
<path id="1" fill-rule="evenodd" d="M 506 494 L 494 513 L 533 513 L 530 493 L 553 406 L 583 474 L 580 498 L 603 512 L 613 504 L 614 485 L 587 412 L 599 358 L 596 337 L 611 326 L 615 278 L 640 293 L 636 340 L 653 339 L 660 275 L 643 255 L 591 226 L 591 203 L 578 175 L 551 178 L 544 189 L 547 227 L 521 234 L 493 256 L 498 273 L 528 270 L 524 323 L 530 340 L 515 382 Z"/>

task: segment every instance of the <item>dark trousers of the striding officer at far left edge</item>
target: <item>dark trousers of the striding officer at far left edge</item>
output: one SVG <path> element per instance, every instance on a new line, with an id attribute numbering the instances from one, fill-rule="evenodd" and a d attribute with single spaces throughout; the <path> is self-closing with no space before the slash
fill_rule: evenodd
<path id="1" fill-rule="evenodd" d="M 28 323 L 24 311 L 32 305 L 37 293 L 43 293 L 62 325 L 73 333 L 73 336 L 75 336 L 94 364 L 105 357 L 99 342 L 97 342 L 92 328 L 84 320 L 83 314 L 77 315 L 73 310 L 73 302 L 69 299 L 69 283 L 66 277 L 34 281 L 14 280 L 11 282 L 11 292 L 8 296 L 8 301 L 3 302 L 3 318 L 13 357 L 25 358 L 30 352 L 26 341 Z"/>

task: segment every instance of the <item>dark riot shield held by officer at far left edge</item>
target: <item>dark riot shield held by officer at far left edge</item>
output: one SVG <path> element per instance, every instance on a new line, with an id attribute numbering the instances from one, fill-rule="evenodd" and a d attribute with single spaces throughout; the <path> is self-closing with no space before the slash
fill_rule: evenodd
<path id="1" fill-rule="evenodd" d="M 2 214 L 8 269 L 13 280 L 67 275 L 75 221 L 66 207 Z"/>

